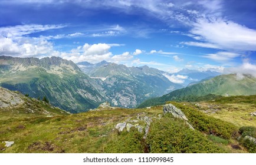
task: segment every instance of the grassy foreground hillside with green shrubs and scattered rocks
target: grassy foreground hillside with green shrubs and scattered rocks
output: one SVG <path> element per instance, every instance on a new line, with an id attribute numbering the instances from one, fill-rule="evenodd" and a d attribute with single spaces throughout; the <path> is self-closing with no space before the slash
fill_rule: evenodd
<path id="1" fill-rule="evenodd" d="M 162 105 L 140 109 L 99 108 L 79 114 L 55 113 L 50 117 L 22 113 L 22 107 L 8 111 L 1 108 L 0 141 L 14 141 L 14 144 L 8 148 L 1 144 L 0 152 L 255 153 L 255 144 L 244 138 L 255 137 L 256 118 L 250 116 L 256 111 L 255 104 L 245 103 L 247 97 L 234 99 L 240 103 L 172 102 L 195 130 L 171 114 L 164 115 Z M 30 106 L 31 110 L 37 109 L 34 104 Z M 120 123 L 126 123 L 123 131 L 117 128 Z M 128 129 L 128 125 L 133 127 Z"/>

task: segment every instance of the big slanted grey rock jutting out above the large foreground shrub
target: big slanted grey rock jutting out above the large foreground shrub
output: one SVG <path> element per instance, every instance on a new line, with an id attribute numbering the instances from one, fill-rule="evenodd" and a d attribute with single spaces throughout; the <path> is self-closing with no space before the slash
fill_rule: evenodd
<path id="1" fill-rule="evenodd" d="M 186 124 L 191 128 L 192 130 L 195 130 L 191 124 L 188 123 L 188 118 L 186 118 L 185 114 L 175 105 L 172 104 L 166 104 L 163 106 L 163 113 L 171 113 L 173 117 L 180 118 L 186 121 Z"/>

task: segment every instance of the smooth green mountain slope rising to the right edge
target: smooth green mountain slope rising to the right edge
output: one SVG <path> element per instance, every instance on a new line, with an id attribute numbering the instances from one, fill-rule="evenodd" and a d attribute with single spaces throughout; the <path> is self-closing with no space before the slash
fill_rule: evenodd
<path id="1" fill-rule="evenodd" d="M 189 101 L 196 97 L 205 95 L 256 95 L 256 78 L 251 75 L 244 75 L 244 78 L 238 78 L 235 74 L 219 75 L 191 85 L 162 97 L 146 100 L 139 107 L 147 107 L 149 105 L 164 104 L 165 101 Z M 212 96 L 211 96 L 212 97 Z"/>

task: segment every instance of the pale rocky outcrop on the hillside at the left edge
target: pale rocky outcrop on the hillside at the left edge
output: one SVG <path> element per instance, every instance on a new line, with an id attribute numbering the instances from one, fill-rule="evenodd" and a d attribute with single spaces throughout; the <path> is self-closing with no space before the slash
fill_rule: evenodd
<path id="1" fill-rule="evenodd" d="M 9 91 L 5 88 L 0 87 L 0 107 L 1 108 L 6 108 L 6 107 L 24 103 L 24 100 L 22 100 L 21 97 L 22 95 L 19 93 L 15 93 L 13 91 Z"/>

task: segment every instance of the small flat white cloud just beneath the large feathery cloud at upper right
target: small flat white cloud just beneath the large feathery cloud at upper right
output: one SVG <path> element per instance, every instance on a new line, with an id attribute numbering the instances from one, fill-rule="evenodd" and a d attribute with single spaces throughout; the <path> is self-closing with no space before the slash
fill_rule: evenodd
<path id="1" fill-rule="evenodd" d="M 209 58 L 218 62 L 227 62 L 235 57 L 239 57 L 239 54 L 234 52 L 216 52 L 215 54 L 206 54 L 202 57 Z"/>

